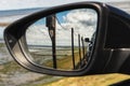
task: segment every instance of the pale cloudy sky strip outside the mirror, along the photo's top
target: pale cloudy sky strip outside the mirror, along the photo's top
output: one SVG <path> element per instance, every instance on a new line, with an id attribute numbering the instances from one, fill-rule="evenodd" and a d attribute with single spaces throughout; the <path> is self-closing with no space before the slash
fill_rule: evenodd
<path id="1" fill-rule="evenodd" d="M 58 4 L 65 4 L 79 1 L 100 1 L 100 2 L 113 2 L 113 1 L 129 1 L 129 0 L 1 0 L 0 11 L 2 10 L 17 10 L 28 8 L 44 8 Z"/>

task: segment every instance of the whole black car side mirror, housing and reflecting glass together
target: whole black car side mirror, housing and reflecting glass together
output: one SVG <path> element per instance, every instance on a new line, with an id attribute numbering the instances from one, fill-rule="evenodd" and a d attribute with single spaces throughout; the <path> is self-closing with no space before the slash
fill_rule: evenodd
<path id="1" fill-rule="evenodd" d="M 12 57 L 24 68 L 52 75 L 130 73 L 130 16 L 98 2 L 51 8 L 4 31 Z"/>

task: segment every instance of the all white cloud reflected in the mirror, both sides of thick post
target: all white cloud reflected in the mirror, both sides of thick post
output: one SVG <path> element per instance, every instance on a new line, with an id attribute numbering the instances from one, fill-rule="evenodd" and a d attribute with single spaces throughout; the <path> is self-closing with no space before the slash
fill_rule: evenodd
<path id="1" fill-rule="evenodd" d="M 63 19 L 64 20 L 63 23 L 61 23 L 61 25 L 58 24 L 58 22 L 56 22 L 57 45 L 72 44 L 72 28 L 74 28 L 76 45 L 78 44 L 78 34 L 83 38 L 91 39 L 92 34 L 96 30 L 98 15 L 96 12 L 93 10 L 73 10 L 69 11 L 66 15 L 63 15 Z M 27 31 L 27 42 L 29 44 L 51 45 L 51 39 L 46 25 L 31 25 Z"/>

